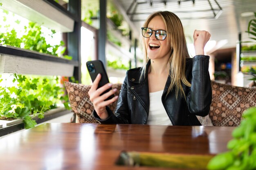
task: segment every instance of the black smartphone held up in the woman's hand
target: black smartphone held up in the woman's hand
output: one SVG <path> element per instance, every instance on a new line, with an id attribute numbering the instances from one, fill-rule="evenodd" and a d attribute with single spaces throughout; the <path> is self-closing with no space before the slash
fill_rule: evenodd
<path id="1" fill-rule="evenodd" d="M 107 72 L 106 72 L 105 67 L 104 67 L 103 63 L 101 62 L 101 60 L 88 61 L 88 62 L 86 62 L 86 66 L 89 71 L 92 82 L 94 82 L 94 80 L 96 79 L 96 77 L 99 73 L 101 74 L 101 80 L 99 81 L 98 88 L 109 83 Z M 111 89 L 112 88 L 110 87 L 108 90 L 104 91 L 101 95 L 107 93 Z M 105 99 L 105 101 L 112 99 L 113 97 L 114 97 L 114 95 L 111 95 L 110 97 Z"/>

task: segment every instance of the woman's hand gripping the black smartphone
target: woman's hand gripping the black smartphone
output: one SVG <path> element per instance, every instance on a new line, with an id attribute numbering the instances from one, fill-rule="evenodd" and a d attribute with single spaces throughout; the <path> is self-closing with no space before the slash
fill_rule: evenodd
<path id="1" fill-rule="evenodd" d="M 88 91 L 88 94 L 90 96 L 90 100 L 91 100 L 98 116 L 101 119 L 107 119 L 108 113 L 106 110 L 106 106 L 115 102 L 118 99 L 118 96 L 115 96 L 109 100 L 106 100 L 106 99 L 108 97 L 110 97 L 111 95 L 114 95 L 115 92 L 117 91 L 117 89 L 114 88 L 114 89 L 108 91 L 107 93 L 101 95 L 104 91 L 108 90 L 112 86 L 112 84 L 108 83 L 108 84 L 105 84 L 104 86 L 98 88 L 100 80 L 101 80 L 101 74 L 98 74 L 92 84 L 90 91 Z"/>

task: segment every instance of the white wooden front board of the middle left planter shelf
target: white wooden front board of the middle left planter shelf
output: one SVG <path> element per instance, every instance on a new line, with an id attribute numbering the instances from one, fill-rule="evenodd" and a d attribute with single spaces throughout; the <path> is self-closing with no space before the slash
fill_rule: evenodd
<path id="1" fill-rule="evenodd" d="M 72 77 L 74 66 L 45 60 L 0 55 L 0 73 L 62 75 Z"/>

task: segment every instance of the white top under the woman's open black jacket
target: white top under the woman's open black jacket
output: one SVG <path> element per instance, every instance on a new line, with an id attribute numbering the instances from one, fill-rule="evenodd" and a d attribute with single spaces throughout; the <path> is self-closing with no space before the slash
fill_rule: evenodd
<path id="1" fill-rule="evenodd" d="M 164 90 L 149 93 L 149 114 L 148 125 L 172 125 L 164 106 L 162 104 L 162 94 Z"/>

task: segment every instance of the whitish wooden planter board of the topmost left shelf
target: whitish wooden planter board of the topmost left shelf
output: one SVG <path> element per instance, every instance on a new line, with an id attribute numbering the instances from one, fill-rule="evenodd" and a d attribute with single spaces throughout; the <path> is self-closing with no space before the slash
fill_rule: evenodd
<path id="1" fill-rule="evenodd" d="M 74 20 L 45 0 L 5 0 L 2 8 L 56 31 L 74 30 Z"/>

